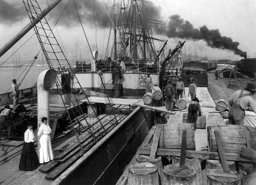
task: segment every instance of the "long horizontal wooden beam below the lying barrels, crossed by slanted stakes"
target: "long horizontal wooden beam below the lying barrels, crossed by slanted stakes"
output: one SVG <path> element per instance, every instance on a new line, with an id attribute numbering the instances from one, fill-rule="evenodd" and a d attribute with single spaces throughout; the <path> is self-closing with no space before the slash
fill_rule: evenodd
<path id="1" fill-rule="evenodd" d="M 149 155 L 151 152 L 151 147 L 139 147 L 137 150 L 138 154 Z M 170 148 L 158 148 L 156 155 L 171 155 L 180 157 L 181 150 L 170 149 Z M 226 159 L 228 161 L 237 161 L 235 156 L 237 153 L 225 153 Z M 198 150 L 186 150 L 186 157 L 200 158 L 200 159 L 215 159 L 219 160 L 218 152 L 208 152 L 208 151 L 198 151 Z"/>

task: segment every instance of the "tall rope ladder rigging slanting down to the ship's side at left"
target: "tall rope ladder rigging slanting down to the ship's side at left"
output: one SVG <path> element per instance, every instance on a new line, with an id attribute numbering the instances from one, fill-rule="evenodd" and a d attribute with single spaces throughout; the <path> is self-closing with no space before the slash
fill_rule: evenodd
<path id="1" fill-rule="evenodd" d="M 82 107 L 80 106 L 80 102 L 77 97 L 73 95 L 72 91 L 73 88 L 82 89 L 82 86 L 79 83 L 76 75 L 73 73 L 72 67 L 68 62 L 66 56 L 64 55 L 55 35 L 53 34 L 53 31 L 50 28 L 48 21 L 45 17 L 41 20 L 38 19 L 38 17 L 42 15 L 42 10 L 39 4 L 36 0 L 26 2 L 23 1 L 23 3 L 25 5 L 30 21 L 34 25 L 33 28 L 35 30 L 37 39 L 39 40 L 47 64 L 54 77 L 54 88 L 56 88 L 58 94 L 60 94 L 63 105 L 66 109 L 66 112 L 68 113 L 69 121 L 73 127 L 83 155 L 86 149 L 78 138 L 80 130 L 77 131 L 74 125 L 78 124 L 79 127 L 81 126 L 86 132 L 88 132 L 92 136 L 94 143 L 97 143 L 102 137 L 104 137 L 107 134 L 107 131 L 105 130 L 102 121 L 98 117 L 98 121 L 101 124 L 103 131 L 98 131 L 96 128 L 92 127 L 91 124 L 86 120 L 85 114 L 83 113 Z M 87 98 L 84 91 L 83 94 Z M 89 106 L 91 106 L 88 98 L 87 101 L 89 103 Z M 75 105 L 75 109 L 68 109 L 68 107 L 70 106 L 69 104 Z M 72 113 L 73 115 L 77 115 L 75 116 L 75 119 L 71 119 L 70 113 Z M 95 111 L 94 113 L 96 114 Z M 81 120 L 78 119 L 79 117 L 85 120 L 86 126 L 82 125 L 82 123 L 80 122 Z"/>

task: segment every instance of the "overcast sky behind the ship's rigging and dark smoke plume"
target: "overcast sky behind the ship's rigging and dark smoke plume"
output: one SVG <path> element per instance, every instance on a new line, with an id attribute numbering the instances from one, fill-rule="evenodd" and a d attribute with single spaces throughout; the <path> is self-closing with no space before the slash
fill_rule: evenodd
<path id="1" fill-rule="evenodd" d="M 52 2 L 50 0 L 48 1 Z M 68 1 L 69 0 L 62 0 L 62 2 L 52 10 L 53 14 L 56 12 L 53 15 L 54 21 L 58 19 Z M 47 0 L 40 0 L 40 2 L 41 8 L 44 9 L 47 6 Z M 75 0 L 75 3 L 81 15 L 90 47 L 95 51 L 97 43 L 99 56 L 101 57 L 102 53 L 103 55 L 105 54 L 105 46 L 109 33 L 109 26 L 107 25 L 109 18 L 104 7 L 100 0 Z M 105 0 L 103 3 L 108 12 L 110 12 L 112 2 Z M 208 30 L 216 31 L 216 29 L 218 29 L 221 37 L 230 37 L 232 39 L 231 45 L 237 44 L 239 51 L 247 52 L 248 58 L 254 57 L 254 53 L 256 53 L 255 0 L 154 0 L 152 3 L 156 7 L 155 10 L 157 10 L 155 13 L 159 15 L 161 21 L 167 23 L 170 20 L 170 15 L 179 15 L 178 17 L 176 16 L 177 20 L 184 21 L 179 22 L 181 23 L 181 26 L 185 21 L 189 21 L 190 27 L 192 26 L 192 29 L 196 31 L 200 30 L 204 25 Z M 93 10 L 96 20 L 95 23 L 93 21 Z M 50 14 L 48 14 L 47 19 L 49 17 Z M 24 26 L 26 26 L 29 21 L 30 20 L 21 0 L 0 0 L 0 48 L 2 48 L 6 42 L 14 37 Z M 49 24 L 53 27 L 54 23 L 52 19 L 49 21 Z M 97 29 L 95 29 L 95 24 Z M 73 55 L 77 52 L 77 58 L 80 58 L 80 50 L 82 58 L 91 57 L 84 33 L 78 22 L 73 1 L 68 5 L 68 8 L 60 18 L 56 28 L 57 30 L 54 31 L 55 36 L 58 41 L 63 44 L 68 58 L 71 57 L 72 51 Z M 34 30 L 28 32 L 19 42 L 17 42 L 17 44 L 14 45 L 12 49 L 0 58 L 0 61 L 6 60 L 12 52 L 19 48 L 19 46 L 21 46 L 33 33 Z M 169 33 L 166 33 L 165 35 L 168 34 Z M 198 38 L 199 39 L 194 39 L 193 41 L 192 36 L 191 38 L 187 38 L 187 36 L 185 36 L 180 39 L 173 36 L 173 38 L 169 38 L 169 41 L 187 40 L 185 44 L 187 52 L 188 49 L 194 52 L 196 48 L 197 54 L 199 56 L 202 55 L 203 57 L 207 55 L 219 58 L 240 58 L 239 55 L 234 55 L 233 51 L 208 47 L 206 41 L 203 38 L 200 39 L 201 35 Z M 237 42 L 240 44 L 238 45 Z M 169 46 L 171 48 L 175 45 L 175 43 L 169 42 Z M 21 60 L 32 60 L 33 56 L 38 53 L 39 49 L 40 46 L 38 40 L 34 35 L 19 50 Z M 12 58 L 9 60 L 11 59 Z"/>

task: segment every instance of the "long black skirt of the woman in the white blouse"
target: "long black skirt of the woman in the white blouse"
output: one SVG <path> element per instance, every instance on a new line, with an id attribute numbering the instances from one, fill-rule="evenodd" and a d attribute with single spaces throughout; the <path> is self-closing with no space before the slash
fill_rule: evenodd
<path id="1" fill-rule="evenodd" d="M 19 163 L 19 170 L 23 171 L 32 171 L 34 170 L 39 164 L 37 152 L 35 151 L 35 145 L 33 142 L 24 143 L 22 152 L 21 152 L 21 159 Z"/>

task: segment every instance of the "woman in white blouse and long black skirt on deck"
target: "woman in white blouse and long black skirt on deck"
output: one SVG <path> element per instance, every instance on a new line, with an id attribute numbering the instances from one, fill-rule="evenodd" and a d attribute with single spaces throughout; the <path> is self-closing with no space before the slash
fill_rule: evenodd
<path id="1" fill-rule="evenodd" d="M 27 171 L 34 170 L 38 164 L 37 152 L 35 151 L 35 137 L 33 134 L 33 123 L 27 124 L 28 129 L 24 133 L 25 143 L 23 144 L 21 159 L 19 163 L 19 170 Z"/>

